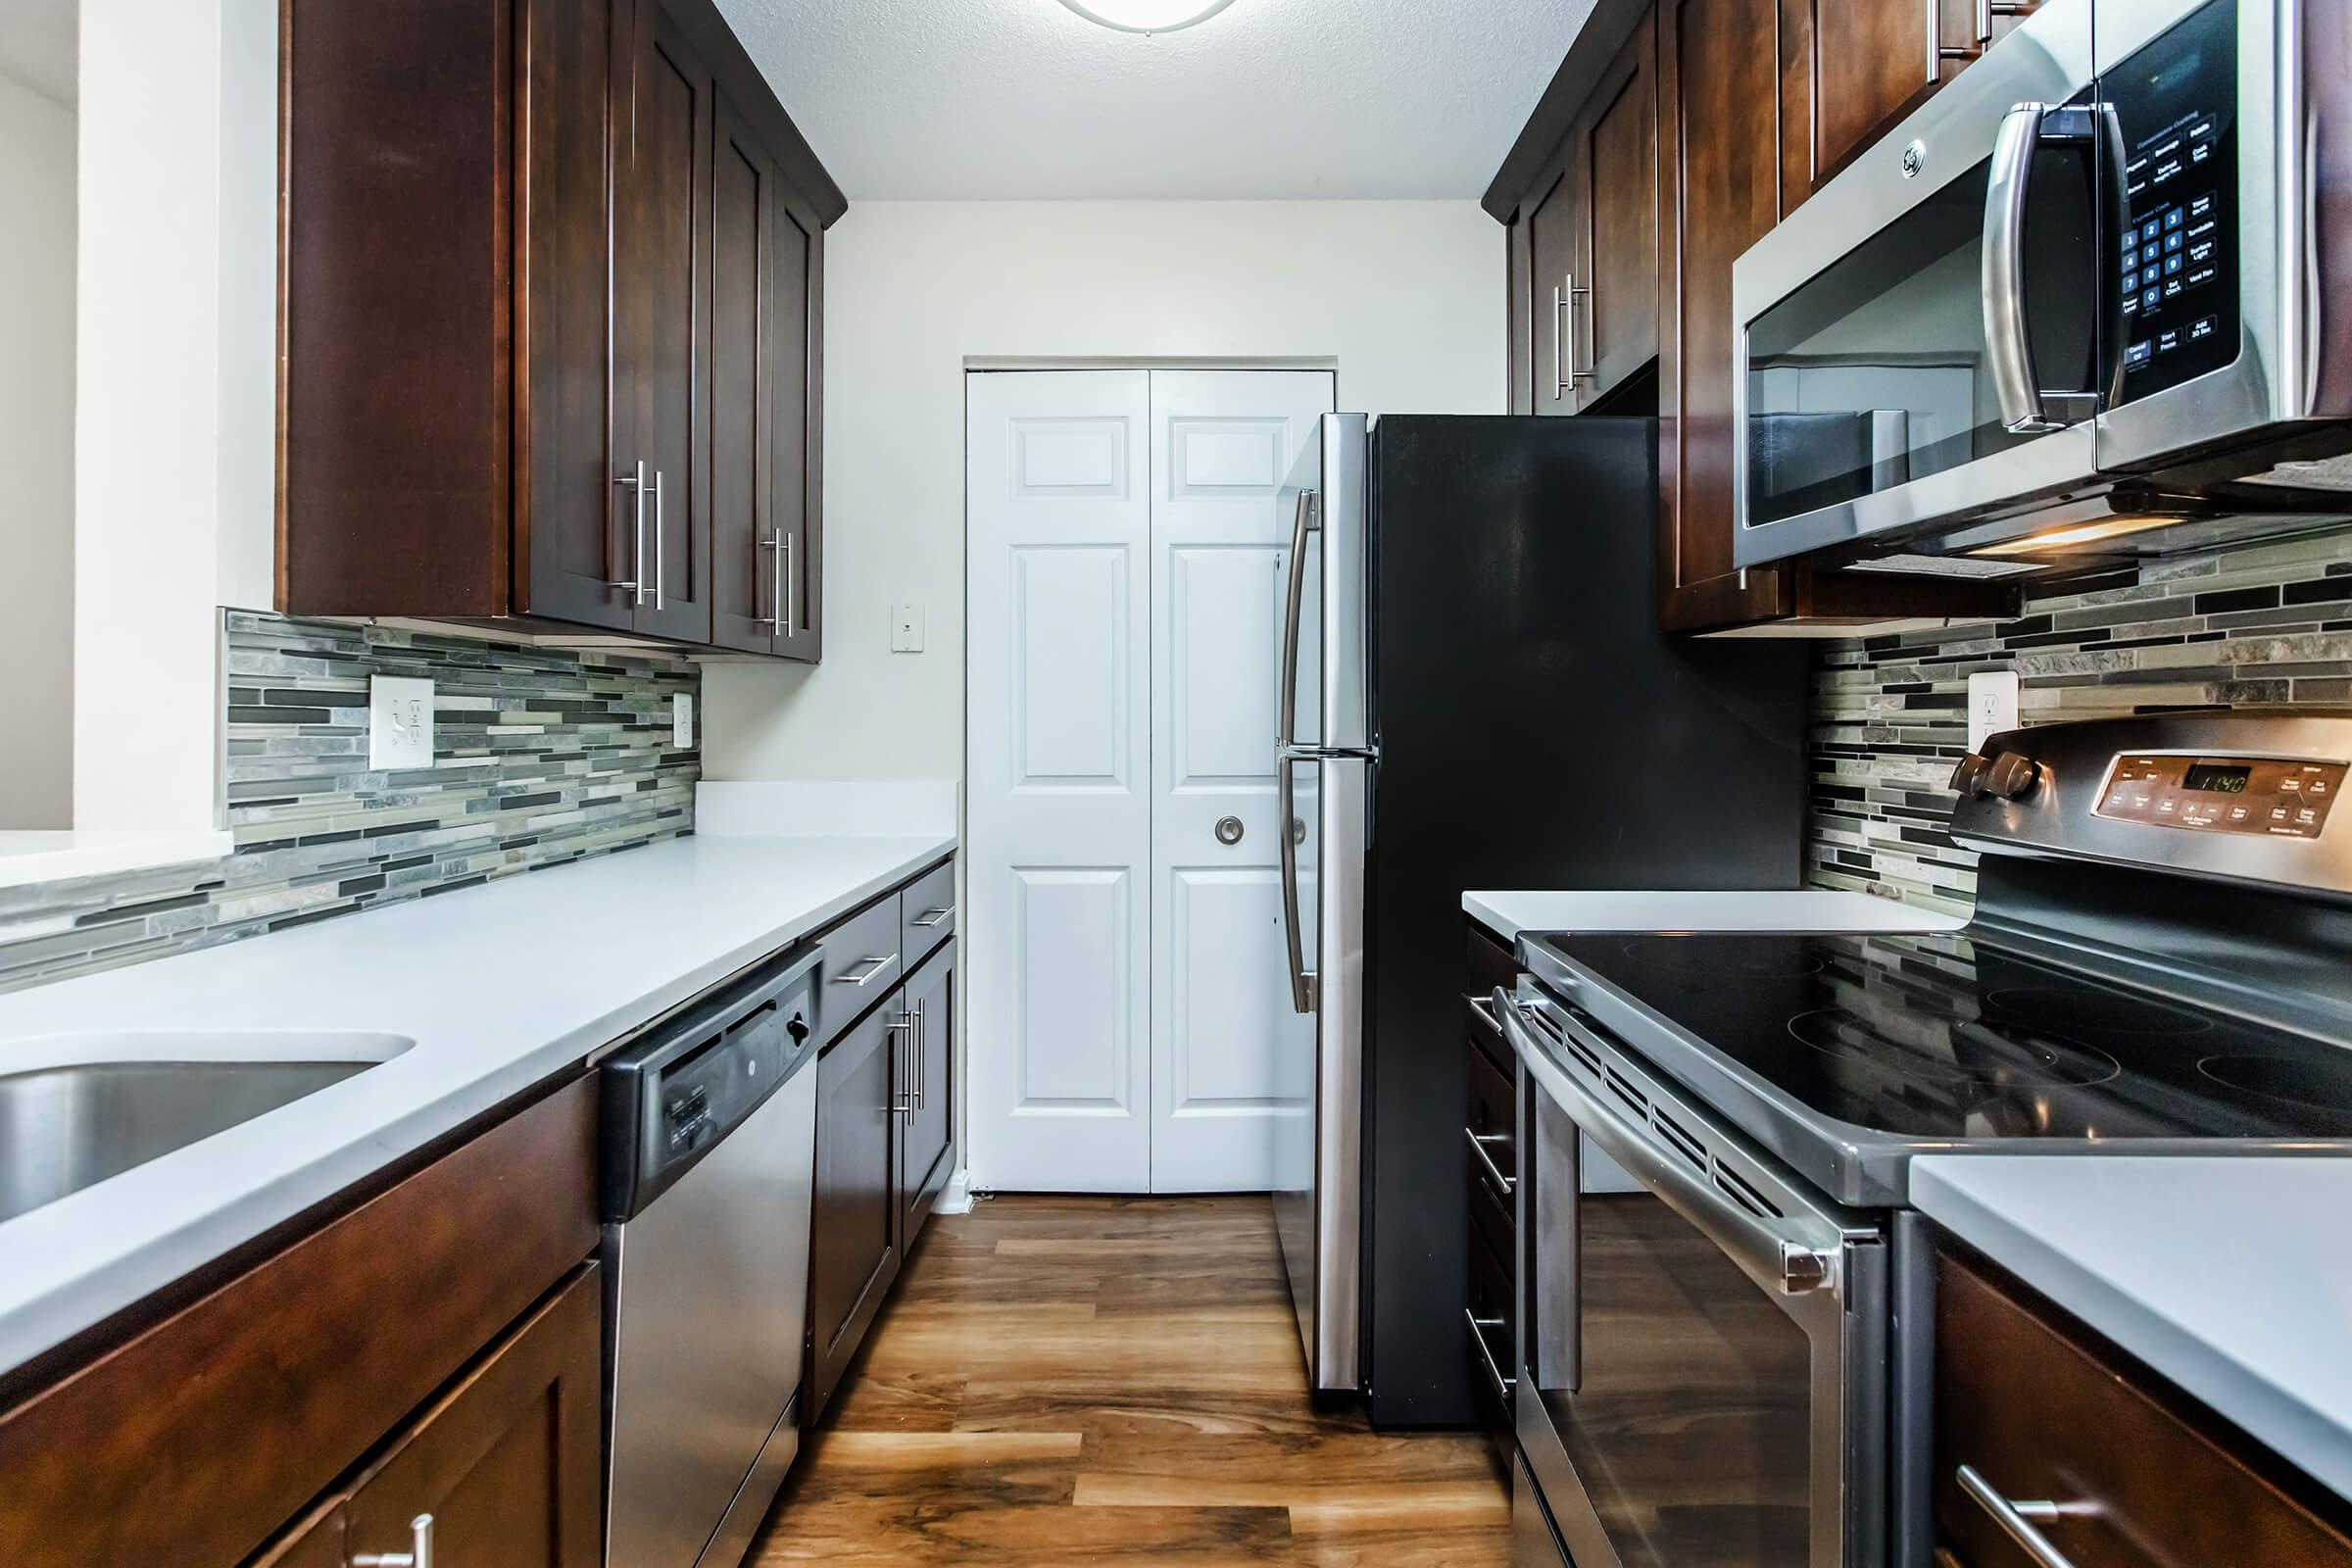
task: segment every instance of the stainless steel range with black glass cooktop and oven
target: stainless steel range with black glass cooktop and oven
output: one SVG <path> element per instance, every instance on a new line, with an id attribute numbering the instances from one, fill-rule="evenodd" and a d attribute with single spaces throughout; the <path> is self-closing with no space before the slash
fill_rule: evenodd
<path id="1" fill-rule="evenodd" d="M 1522 1561 L 1929 1563 L 1912 1154 L 2352 1152 L 2352 715 L 1994 736 L 1978 912 L 1522 936 Z"/>

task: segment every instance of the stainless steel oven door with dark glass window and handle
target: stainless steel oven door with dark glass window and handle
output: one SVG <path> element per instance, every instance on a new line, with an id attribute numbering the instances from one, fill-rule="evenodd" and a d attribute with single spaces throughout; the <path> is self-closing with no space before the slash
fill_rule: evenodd
<path id="1" fill-rule="evenodd" d="M 1494 999 L 1526 1065 L 1517 1434 L 1569 1556 L 1877 1566 L 1879 1229 L 1531 980 Z M 1632 1180 L 1592 1180 L 1595 1154 Z"/>

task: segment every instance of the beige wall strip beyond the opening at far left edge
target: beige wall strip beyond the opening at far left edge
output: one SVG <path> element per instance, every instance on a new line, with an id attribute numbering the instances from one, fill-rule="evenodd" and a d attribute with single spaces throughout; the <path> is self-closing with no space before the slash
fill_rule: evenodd
<path id="1" fill-rule="evenodd" d="M 73 820 L 73 110 L 0 75 L 0 830 Z"/>

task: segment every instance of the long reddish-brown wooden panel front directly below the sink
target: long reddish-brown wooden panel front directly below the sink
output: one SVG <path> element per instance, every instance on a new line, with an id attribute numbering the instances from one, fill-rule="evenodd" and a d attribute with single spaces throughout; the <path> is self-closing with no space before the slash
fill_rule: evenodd
<path id="1" fill-rule="evenodd" d="M 593 1154 L 576 1079 L 0 1410 L 0 1563 L 242 1563 L 595 1251 Z"/>

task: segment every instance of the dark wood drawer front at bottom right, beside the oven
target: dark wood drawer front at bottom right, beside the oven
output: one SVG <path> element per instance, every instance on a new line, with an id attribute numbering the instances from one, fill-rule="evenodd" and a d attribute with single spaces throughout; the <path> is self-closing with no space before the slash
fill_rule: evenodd
<path id="1" fill-rule="evenodd" d="M 2034 1523 L 2074 1568 L 2352 1566 L 2352 1537 L 2265 1476 L 2241 1434 L 2044 1302 L 1938 1255 L 1936 1537 L 1962 1568 L 2032 1568 L 1962 1465 L 2002 1497 L 2086 1505 Z"/>

